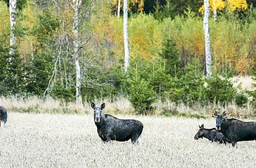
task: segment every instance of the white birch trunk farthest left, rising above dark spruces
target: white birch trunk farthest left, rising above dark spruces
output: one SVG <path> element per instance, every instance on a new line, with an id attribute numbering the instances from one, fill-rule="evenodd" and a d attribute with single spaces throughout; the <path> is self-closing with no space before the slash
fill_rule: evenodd
<path id="1" fill-rule="evenodd" d="M 14 27 L 16 25 L 16 0 L 10 0 L 9 1 L 9 11 L 10 11 L 10 28 L 11 28 L 11 34 L 10 34 L 10 51 L 9 53 L 11 55 L 14 54 L 14 48 L 13 45 L 16 44 L 16 38 L 13 33 Z"/>

